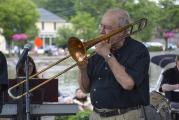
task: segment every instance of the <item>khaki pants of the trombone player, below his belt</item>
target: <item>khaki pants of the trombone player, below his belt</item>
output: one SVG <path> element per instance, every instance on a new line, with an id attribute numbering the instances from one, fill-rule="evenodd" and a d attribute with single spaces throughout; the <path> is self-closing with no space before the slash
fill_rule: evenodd
<path id="1" fill-rule="evenodd" d="M 122 115 L 116 115 L 111 117 L 101 117 L 98 113 L 92 112 L 90 120 L 145 120 L 141 109 L 131 110 Z"/>

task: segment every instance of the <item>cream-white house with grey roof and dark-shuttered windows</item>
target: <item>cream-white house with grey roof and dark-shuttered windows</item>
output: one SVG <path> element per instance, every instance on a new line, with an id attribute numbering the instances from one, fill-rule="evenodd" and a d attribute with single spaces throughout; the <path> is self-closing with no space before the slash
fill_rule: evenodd
<path id="1" fill-rule="evenodd" d="M 44 8 L 38 8 L 38 11 L 40 18 L 36 25 L 39 29 L 39 37 L 43 40 L 43 47 L 45 48 L 47 45 L 52 45 L 54 38 L 56 38 L 57 30 L 70 26 L 70 23 Z"/>

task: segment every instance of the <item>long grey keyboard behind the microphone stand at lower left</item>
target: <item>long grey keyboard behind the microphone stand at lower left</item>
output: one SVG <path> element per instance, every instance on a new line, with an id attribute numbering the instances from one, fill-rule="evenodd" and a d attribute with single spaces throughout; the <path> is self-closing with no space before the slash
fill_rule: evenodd
<path id="1" fill-rule="evenodd" d="M 14 118 L 18 112 L 17 107 L 17 104 L 4 104 L 0 118 Z M 75 115 L 78 112 L 78 105 L 58 103 L 30 104 L 30 110 L 31 116 Z"/>

